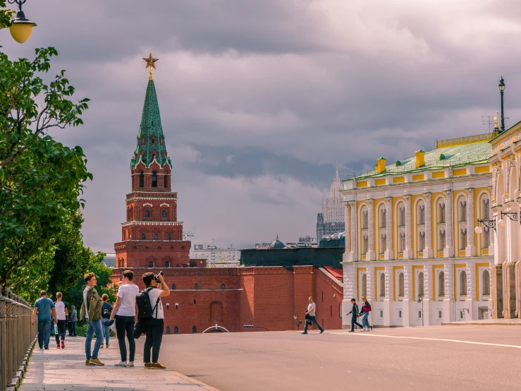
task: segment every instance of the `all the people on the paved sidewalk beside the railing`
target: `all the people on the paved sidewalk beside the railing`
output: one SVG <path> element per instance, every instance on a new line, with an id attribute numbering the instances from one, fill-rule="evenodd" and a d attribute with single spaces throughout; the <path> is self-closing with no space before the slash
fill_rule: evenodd
<path id="1" fill-rule="evenodd" d="M 82 289 L 82 305 L 80 309 L 80 320 L 87 323 L 87 338 L 85 339 L 85 365 L 104 366 L 99 360 L 99 349 L 109 348 L 110 327 L 115 323 L 116 335 L 118 337 L 121 361 L 115 366 L 134 366 L 135 359 L 135 337 L 138 338 L 145 333 L 145 351 L 143 361 L 145 368 L 164 369 L 165 366 L 159 363 L 159 350 L 164 332 L 164 311 L 161 297 L 168 296 L 170 289 L 164 282 L 163 275 L 154 275 L 147 272 L 143 276 L 143 282 L 147 287 L 144 291 L 152 307 L 152 315 L 141 319 L 140 329 L 135 331 L 136 320 L 136 296 L 140 294 L 140 289 L 133 283 L 134 273 L 125 270 L 122 273 L 122 280 L 119 282 L 117 300 L 114 307 L 109 303 L 109 296 L 103 294 L 99 296 L 96 285 L 97 279 L 94 273 L 87 273 L 83 279 L 85 287 Z M 142 293 L 143 294 L 143 293 Z M 65 349 L 66 323 L 69 321 L 69 335 L 76 334 L 76 323 L 78 313 L 75 307 L 71 306 L 68 311 L 67 304 L 62 300 L 63 295 L 56 293 L 56 302 L 47 297 L 46 291 L 40 292 L 40 298 L 35 302 L 35 309 L 32 313 L 32 324 L 38 318 L 38 345 L 40 349 L 49 349 L 49 339 L 51 336 L 51 324 L 54 322 L 56 332 L 56 347 Z M 138 318 L 140 318 L 138 314 Z M 94 349 L 92 349 L 92 339 Z M 125 343 L 125 335 L 128 340 L 128 348 Z M 61 338 L 61 342 L 60 342 Z"/>

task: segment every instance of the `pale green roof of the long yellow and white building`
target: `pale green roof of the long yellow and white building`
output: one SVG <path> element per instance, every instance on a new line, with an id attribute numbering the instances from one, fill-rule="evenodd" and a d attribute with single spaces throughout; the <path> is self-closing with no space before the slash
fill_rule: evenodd
<path id="1" fill-rule="evenodd" d="M 443 155 L 443 157 L 441 156 Z M 477 164 L 488 162 L 492 156 L 492 147 L 489 140 L 479 143 L 469 143 L 465 145 L 453 145 L 445 148 L 436 148 L 425 152 L 425 165 L 422 167 L 415 167 L 416 157 L 407 157 L 404 160 L 398 160 L 393 164 L 386 165 L 386 170 L 377 173 L 376 170 L 367 172 L 356 179 L 364 179 L 370 176 L 385 176 L 387 174 L 402 174 L 405 172 L 421 172 L 427 169 L 441 169 L 445 167 L 461 166 L 465 164 Z"/>

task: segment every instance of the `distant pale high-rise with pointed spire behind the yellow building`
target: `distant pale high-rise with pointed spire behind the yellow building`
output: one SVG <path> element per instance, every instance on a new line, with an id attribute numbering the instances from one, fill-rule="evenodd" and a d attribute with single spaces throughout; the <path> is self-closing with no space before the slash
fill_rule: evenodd
<path id="1" fill-rule="evenodd" d="M 317 215 L 317 241 L 320 241 L 323 236 L 345 231 L 341 187 L 338 167 L 336 167 L 336 176 L 333 179 L 333 184 L 331 184 L 329 197 L 324 194 L 324 197 L 322 197 L 322 212 Z"/>

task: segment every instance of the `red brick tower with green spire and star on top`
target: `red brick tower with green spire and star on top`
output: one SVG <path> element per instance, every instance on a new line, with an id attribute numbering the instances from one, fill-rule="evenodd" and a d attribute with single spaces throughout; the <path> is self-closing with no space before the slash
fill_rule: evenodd
<path id="1" fill-rule="evenodd" d="M 166 152 L 156 88 L 150 77 L 137 147 L 131 160 L 132 192 L 127 194 L 127 221 L 121 242 L 114 243 L 116 268 L 183 267 L 189 263 L 190 241 L 177 221 L 177 193 L 171 191 L 172 163 Z"/>

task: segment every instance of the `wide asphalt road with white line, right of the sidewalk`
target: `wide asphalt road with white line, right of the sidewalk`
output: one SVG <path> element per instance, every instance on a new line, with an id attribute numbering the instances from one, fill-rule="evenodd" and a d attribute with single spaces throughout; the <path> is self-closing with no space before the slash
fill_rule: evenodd
<path id="1" fill-rule="evenodd" d="M 221 391 L 521 390 L 521 327 L 165 335 L 160 362 Z"/>

